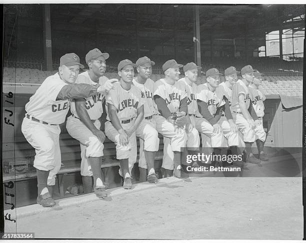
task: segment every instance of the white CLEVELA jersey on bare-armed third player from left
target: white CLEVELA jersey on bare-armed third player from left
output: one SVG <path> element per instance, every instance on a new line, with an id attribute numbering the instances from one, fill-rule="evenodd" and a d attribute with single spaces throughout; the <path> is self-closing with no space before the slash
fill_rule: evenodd
<path id="1" fill-rule="evenodd" d="M 106 103 L 116 107 L 118 119 L 122 121 L 137 117 L 137 109 L 144 104 L 141 91 L 134 85 L 125 90 L 120 82 L 113 83 L 113 87 L 114 89 L 109 90 L 106 95 Z M 106 113 L 106 119 L 110 121 L 107 110 Z"/>

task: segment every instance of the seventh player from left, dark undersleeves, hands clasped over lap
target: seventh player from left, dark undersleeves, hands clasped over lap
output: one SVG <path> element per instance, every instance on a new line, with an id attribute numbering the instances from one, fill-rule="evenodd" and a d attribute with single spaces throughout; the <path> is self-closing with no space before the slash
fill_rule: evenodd
<path id="1" fill-rule="evenodd" d="M 207 82 L 197 87 L 196 99 L 201 117 L 195 118 L 196 129 L 210 137 L 210 140 L 206 140 L 202 136 L 202 147 L 212 147 L 217 154 L 220 153 L 223 136 L 228 146 L 238 146 L 238 130 L 232 120 L 228 100 L 224 101 L 223 94 L 217 90 L 219 75 L 216 68 L 207 70 Z M 220 120 L 223 112 L 226 119 Z"/>

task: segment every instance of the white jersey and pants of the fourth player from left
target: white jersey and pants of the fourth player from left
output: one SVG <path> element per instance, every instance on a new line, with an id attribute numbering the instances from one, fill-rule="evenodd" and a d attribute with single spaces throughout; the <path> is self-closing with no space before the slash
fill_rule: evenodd
<path id="1" fill-rule="evenodd" d="M 148 78 L 144 84 L 141 84 L 133 79 L 133 84 L 140 89 L 141 97 L 144 99 L 144 117 L 136 128 L 136 136 L 140 137 L 138 166 L 146 169 L 144 150 L 155 152 L 159 148 L 158 133 L 155 129 L 155 120 L 153 119 L 153 115 L 157 114 L 156 104 L 153 100 L 154 81 Z"/>

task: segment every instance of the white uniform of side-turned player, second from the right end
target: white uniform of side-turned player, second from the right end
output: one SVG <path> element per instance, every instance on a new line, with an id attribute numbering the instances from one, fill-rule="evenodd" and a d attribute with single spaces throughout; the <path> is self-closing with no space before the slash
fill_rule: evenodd
<path id="1" fill-rule="evenodd" d="M 244 95 L 244 102 L 246 109 L 248 109 L 250 104 L 250 97 L 249 97 L 249 90 L 248 87 L 243 83 L 242 80 L 238 80 L 232 87 L 232 102 L 231 102 L 231 110 L 232 110 L 232 117 L 236 125 L 238 126 L 239 130 L 243 134 L 243 141 L 252 143 L 255 141 L 255 132 L 254 129 L 249 127 L 246 119 L 244 118 L 240 106 L 238 96 L 239 94 Z"/>

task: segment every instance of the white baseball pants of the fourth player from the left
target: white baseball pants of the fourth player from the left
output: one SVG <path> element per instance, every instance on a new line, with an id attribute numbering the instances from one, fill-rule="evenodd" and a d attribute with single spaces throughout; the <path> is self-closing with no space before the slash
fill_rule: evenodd
<path id="1" fill-rule="evenodd" d="M 138 166 L 146 169 L 144 150 L 156 152 L 159 148 L 158 132 L 155 129 L 156 124 L 153 119 L 143 119 L 136 129 L 136 137 L 139 137 L 139 161 Z"/>

